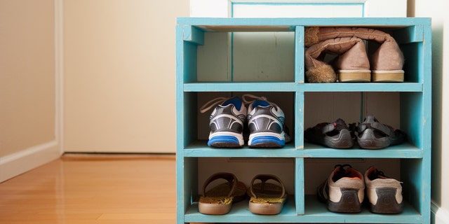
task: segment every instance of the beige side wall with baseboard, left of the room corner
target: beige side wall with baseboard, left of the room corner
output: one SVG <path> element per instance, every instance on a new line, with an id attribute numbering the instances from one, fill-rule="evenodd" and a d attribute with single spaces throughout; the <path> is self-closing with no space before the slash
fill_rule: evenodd
<path id="1" fill-rule="evenodd" d="M 0 15 L 1 182 L 60 153 L 54 1 L 0 0 Z"/>

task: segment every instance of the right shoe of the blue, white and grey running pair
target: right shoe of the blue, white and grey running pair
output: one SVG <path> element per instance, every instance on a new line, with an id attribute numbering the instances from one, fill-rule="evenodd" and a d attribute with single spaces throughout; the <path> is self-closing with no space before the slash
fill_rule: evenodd
<path id="1" fill-rule="evenodd" d="M 246 97 L 255 100 L 248 102 Z M 248 128 L 250 136 L 248 146 L 253 148 L 281 148 L 290 141 L 290 136 L 285 131 L 285 116 L 282 109 L 265 97 L 256 97 L 252 94 L 244 94 L 243 101 L 248 106 Z"/>

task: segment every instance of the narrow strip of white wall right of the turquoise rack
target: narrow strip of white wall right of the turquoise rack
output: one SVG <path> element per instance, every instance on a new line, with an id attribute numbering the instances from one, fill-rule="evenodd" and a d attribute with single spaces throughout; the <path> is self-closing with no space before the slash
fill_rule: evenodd
<path id="1" fill-rule="evenodd" d="M 408 16 L 432 18 L 432 213 L 434 223 L 449 223 L 449 2 L 409 1 Z M 445 43 L 445 44 L 443 44 Z"/>

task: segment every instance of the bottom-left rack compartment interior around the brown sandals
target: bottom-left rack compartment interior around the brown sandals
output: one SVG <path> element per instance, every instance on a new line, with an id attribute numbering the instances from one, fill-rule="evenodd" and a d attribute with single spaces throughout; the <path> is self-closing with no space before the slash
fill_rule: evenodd
<path id="1" fill-rule="evenodd" d="M 201 188 L 207 177 L 214 174 L 217 171 L 231 172 L 236 174 L 239 181 L 250 186 L 250 181 L 257 174 L 274 174 L 283 180 L 288 193 L 288 200 L 284 204 L 281 214 L 277 216 L 283 216 L 284 218 L 291 218 L 296 216 L 295 196 L 293 193 L 296 191 L 295 186 L 295 167 L 297 167 L 297 161 L 294 158 L 198 158 L 198 176 L 199 184 L 194 186 L 194 190 L 201 194 Z M 278 172 L 273 172 L 277 170 Z M 195 195 L 195 194 L 194 194 Z M 195 196 L 194 196 L 195 197 Z M 186 223 L 216 223 L 222 220 L 222 216 L 210 216 L 199 215 L 198 211 L 198 199 L 194 198 L 194 203 L 189 206 L 186 211 L 185 218 Z M 227 222 L 243 222 L 251 221 L 264 222 L 266 216 L 257 217 L 248 210 L 248 200 L 242 202 L 236 202 L 232 206 L 232 210 L 229 212 L 234 217 L 229 217 Z M 229 215 L 227 214 L 227 215 Z M 234 220 L 234 221 L 231 221 Z M 256 222 L 256 223 L 257 223 Z"/>

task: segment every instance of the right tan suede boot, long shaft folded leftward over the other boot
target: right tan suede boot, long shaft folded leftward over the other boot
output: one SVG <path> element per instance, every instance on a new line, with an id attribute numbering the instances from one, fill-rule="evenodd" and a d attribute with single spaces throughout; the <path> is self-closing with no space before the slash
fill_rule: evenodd
<path id="1" fill-rule="evenodd" d="M 373 82 L 403 82 L 404 57 L 398 44 L 383 31 L 360 27 L 306 27 L 304 45 L 337 37 L 358 37 L 380 43 L 380 47 L 370 57 Z"/>

